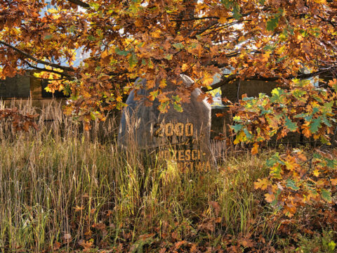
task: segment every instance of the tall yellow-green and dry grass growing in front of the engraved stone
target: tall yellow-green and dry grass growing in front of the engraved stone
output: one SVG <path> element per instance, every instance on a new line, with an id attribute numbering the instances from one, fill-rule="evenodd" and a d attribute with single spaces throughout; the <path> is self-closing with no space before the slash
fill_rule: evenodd
<path id="1" fill-rule="evenodd" d="M 201 242 L 256 233 L 256 221 L 272 239 L 278 224 L 263 225 L 269 210 L 253 190 L 265 155 L 183 173 L 164 157 L 120 150 L 113 117 L 88 136 L 56 101 L 19 107 L 40 113 L 39 131 L 0 122 L 0 252 L 137 245 L 147 233 Z"/>

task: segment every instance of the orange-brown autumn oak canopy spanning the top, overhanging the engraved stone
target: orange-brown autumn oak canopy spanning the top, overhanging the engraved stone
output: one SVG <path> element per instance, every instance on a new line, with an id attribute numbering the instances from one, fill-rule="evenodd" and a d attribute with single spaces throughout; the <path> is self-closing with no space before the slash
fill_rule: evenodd
<path id="1" fill-rule="evenodd" d="M 332 1 L 52 0 L 51 5 L 44 12 L 44 0 L 0 1 L 0 76 L 44 70 L 39 77 L 54 80 L 51 91 L 72 95 L 67 112 L 86 120 L 121 108 L 122 96 L 139 88 L 136 77 L 154 88 L 149 100 L 170 106 L 173 96 L 189 99 L 190 91 L 179 84 L 174 94 L 160 91 L 179 74 L 206 91 L 223 67 L 232 75 L 213 87 L 233 79 L 289 83 L 336 70 Z M 79 49 L 88 57 L 74 65 Z"/>

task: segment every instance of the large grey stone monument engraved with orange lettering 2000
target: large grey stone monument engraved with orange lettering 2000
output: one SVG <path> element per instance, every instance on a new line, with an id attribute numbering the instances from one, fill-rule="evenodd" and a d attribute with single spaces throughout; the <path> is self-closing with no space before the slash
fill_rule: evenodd
<path id="1" fill-rule="evenodd" d="M 156 150 L 161 157 L 173 159 L 180 169 L 210 169 L 216 164 L 211 152 L 211 105 L 206 100 L 198 100 L 200 89 L 194 89 L 190 102 L 182 103 L 183 112 L 171 106 L 166 113 L 158 110 L 159 100 L 145 105 L 151 90 L 144 89 L 145 79 L 137 79 L 140 86 L 135 98 L 131 91 L 126 100 L 127 107 L 121 115 L 118 143 L 123 148 Z M 178 82 L 191 86 L 190 77 L 180 75 Z M 158 85 L 158 84 L 157 84 Z M 167 82 L 163 91 L 175 91 L 176 84 Z"/>

